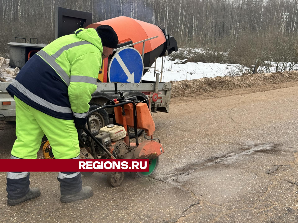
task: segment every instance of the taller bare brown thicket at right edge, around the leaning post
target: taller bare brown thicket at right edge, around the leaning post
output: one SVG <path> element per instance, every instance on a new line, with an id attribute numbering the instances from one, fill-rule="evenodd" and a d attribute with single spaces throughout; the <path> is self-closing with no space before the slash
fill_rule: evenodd
<path id="1" fill-rule="evenodd" d="M 298 39 L 296 36 L 274 35 L 255 36 L 243 34 L 229 52 L 230 63 L 238 63 L 230 75 L 253 72 L 256 61 L 259 73 L 284 72 L 297 69 Z"/>

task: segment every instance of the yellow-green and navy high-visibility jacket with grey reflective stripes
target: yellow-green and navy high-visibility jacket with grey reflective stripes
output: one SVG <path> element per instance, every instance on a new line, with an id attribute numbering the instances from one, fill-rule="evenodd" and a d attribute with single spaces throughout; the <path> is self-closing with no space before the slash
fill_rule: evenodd
<path id="1" fill-rule="evenodd" d="M 102 42 L 93 28 L 56 39 L 32 56 L 7 91 L 50 116 L 84 119 L 102 65 Z"/>

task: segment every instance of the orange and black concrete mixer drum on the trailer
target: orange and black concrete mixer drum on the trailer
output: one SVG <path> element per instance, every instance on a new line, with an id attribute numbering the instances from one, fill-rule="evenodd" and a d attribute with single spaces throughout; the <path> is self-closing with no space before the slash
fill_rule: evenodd
<path id="1" fill-rule="evenodd" d="M 174 37 L 166 35 L 164 29 L 150 23 L 120 16 L 90 24 L 86 28 L 97 28 L 100 25 L 109 25 L 115 30 L 118 35 L 118 47 L 158 36 L 157 38 L 145 42 L 144 68 L 151 67 L 155 58 L 167 56 L 173 51 L 178 50 L 177 42 Z M 133 45 L 132 47 L 138 50 L 142 55 L 143 43 Z M 146 72 L 147 69 L 144 69 L 143 74 Z"/>

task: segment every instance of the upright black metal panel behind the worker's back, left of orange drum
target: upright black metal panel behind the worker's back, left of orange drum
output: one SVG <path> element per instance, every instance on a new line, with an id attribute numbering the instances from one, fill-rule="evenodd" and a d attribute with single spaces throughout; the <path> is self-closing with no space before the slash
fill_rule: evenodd
<path id="1" fill-rule="evenodd" d="M 92 13 L 56 7 L 55 39 L 92 24 Z"/>

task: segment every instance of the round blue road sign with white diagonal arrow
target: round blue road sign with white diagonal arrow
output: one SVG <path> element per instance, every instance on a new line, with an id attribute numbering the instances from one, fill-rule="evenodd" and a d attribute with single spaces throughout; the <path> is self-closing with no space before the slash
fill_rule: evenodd
<path id="1" fill-rule="evenodd" d="M 119 50 L 109 65 L 109 81 L 121 83 L 140 83 L 144 65 L 141 54 L 132 47 Z"/>

